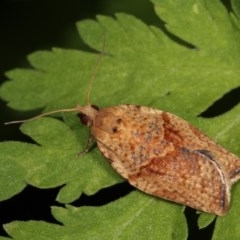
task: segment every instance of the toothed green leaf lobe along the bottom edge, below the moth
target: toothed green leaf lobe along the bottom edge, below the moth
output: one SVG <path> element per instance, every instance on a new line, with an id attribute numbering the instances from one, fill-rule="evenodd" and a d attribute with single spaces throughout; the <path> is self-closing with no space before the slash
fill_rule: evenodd
<path id="1" fill-rule="evenodd" d="M 181 209 L 171 205 L 169 209 L 169 203 L 135 191 L 103 207 L 53 207 L 52 213 L 62 226 L 16 221 L 4 228 L 19 240 L 33 239 L 39 232 L 39 240 L 186 239 Z"/>

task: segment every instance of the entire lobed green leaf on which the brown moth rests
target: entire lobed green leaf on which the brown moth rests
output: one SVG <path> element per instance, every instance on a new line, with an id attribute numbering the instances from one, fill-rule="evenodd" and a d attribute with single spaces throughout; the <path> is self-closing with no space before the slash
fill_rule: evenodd
<path id="1" fill-rule="evenodd" d="M 100 107 L 134 103 L 172 112 L 240 155 L 239 105 L 215 118 L 197 117 L 239 86 L 239 3 L 232 2 L 235 12 L 230 14 L 217 0 L 154 0 L 159 18 L 181 41 L 126 14 L 79 22 L 79 34 L 98 52 L 107 32 L 91 103 Z M 33 69 L 9 71 L 10 81 L 1 86 L 0 96 L 11 108 L 22 111 L 85 104 L 97 57 L 98 53 L 66 49 L 35 52 L 28 56 Z M 71 203 L 82 192 L 90 195 L 122 181 L 96 148 L 76 157 L 86 146 L 88 130 L 74 114 L 64 114 L 64 120 L 42 118 L 23 124 L 21 131 L 36 144 L 0 144 L 1 200 L 19 193 L 26 184 L 39 188 L 64 185 L 57 200 Z M 235 229 L 240 212 L 238 185 L 230 212 L 216 222 L 213 239 L 226 239 L 221 238 L 226 222 L 234 229 L 225 232 L 228 238 L 240 238 Z M 52 213 L 63 225 L 16 221 L 5 229 L 14 239 L 35 239 L 39 232 L 43 235 L 38 239 L 186 239 L 187 235 L 180 206 L 139 191 L 105 206 L 67 205 L 66 209 L 53 207 Z M 211 220 L 211 216 L 200 217 L 199 226 Z"/>

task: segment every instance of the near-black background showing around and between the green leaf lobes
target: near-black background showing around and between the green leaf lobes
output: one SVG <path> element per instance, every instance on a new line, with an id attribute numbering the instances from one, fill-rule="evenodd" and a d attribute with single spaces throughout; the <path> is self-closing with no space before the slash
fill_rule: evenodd
<path id="1" fill-rule="evenodd" d="M 230 3 L 223 3 L 230 11 Z M 86 18 L 94 19 L 97 14 L 114 16 L 117 12 L 130 13 L 147 24 L 163 27 L 148 0 L 1 0 L 0 83 L 6 80 L 5 71 L 16 67 L 29 67 L 26 55 L 33 51 L 50 50 L 52 47 L 85 49 L 86 46 L 75 28 L 75 22 Z M 170 37 L 178 41 L 174 36 Z M 239 88 L 234 89 L 200 116 L 213 117 L 231 109 L 239 103 L 239 96 Z M 8 109 L 6 103 L 1 100 L 0 110 L 0 141 L 24 140 L 18 126 L 3 125 L 5 121 L 21 119 L 21 113 Z M 0 235 L 7 236 L 1 225 L 13 220 L 56 222 L 51 216 L 50 206 L 59 205 L 55 202 L 58 190 L 59 188 L 42 190 L 28 186 L 19 195 L 1 202 Z M 73 204 L 102 205 L 132 190 L 128 183 L 122 183 L 102 190 L 92 197 L 83 195 Z M 189 223 L 189 240 L 211 239 L 214 222 L 206 229 L 199 230 L 195 210 L 187 208 L 185 215 Z"/>

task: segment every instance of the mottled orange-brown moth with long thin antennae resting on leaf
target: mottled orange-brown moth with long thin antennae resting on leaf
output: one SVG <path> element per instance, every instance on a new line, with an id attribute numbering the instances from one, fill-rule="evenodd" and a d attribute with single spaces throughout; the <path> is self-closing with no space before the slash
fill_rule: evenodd
<path id="1" fill-rule="evenodd" d="M 89 150 L 93 137 L 112 167 L 141 191 L 224 215 L 229 209 L 231 186 L 240 178 L 240 159 L 171 113 L 136 105 L 100 110 L 91 105 L 91 86 L 102 56 L 103 50 L 92 73 L 86 106 L 9 123 L 77 111 L 91 130 L 83 153 Z"/>

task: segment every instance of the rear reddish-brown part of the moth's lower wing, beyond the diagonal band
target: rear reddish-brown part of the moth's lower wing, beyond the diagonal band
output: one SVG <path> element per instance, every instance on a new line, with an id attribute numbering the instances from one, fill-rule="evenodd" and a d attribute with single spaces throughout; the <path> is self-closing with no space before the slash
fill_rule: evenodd
<path id="1" fill-rule="evenodd" d="M 229 206 L 228 180 L 215 162 L 197 151 L 178 149 L 149 159 L 129 181 L 144 192 L 204 212 L 222 215 Z"/>

